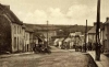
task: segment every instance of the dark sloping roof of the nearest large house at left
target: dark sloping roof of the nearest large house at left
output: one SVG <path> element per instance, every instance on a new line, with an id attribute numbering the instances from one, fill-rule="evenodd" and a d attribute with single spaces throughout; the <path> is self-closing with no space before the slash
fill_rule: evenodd
<path id="1" fill-rule="evenodd" d="M 13 23 L 23 24 L 22 21 L 10 10 L 10 5 L 4 5 L 0 3 L 1 14 L 5 14 Z"/>

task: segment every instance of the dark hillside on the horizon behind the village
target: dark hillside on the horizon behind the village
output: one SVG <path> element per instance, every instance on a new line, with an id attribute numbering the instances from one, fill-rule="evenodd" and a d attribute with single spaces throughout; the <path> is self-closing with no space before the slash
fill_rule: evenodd
<path id="1" fill-rule="evenodd" d="M 46 24 L 25 24 L 27 29 L 32 29 L 35 32 L 47 30 Z M 90 30 L 93 26 L 87 26 L 87 31 Z M 49 24 L 48 30 L 55 30 L 58 34 L 59 30 L 62 30 L 64 34 L 69 34 L 70 32 L 85 32 L 85 25 L 53 25 Z"/>

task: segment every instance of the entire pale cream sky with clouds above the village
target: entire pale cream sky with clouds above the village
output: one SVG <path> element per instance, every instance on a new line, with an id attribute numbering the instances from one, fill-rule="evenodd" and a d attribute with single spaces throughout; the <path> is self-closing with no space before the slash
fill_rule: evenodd
<path id="1" fill-rule="evenodd" d="M 0 0 L 24 23 L 88 25 L 96 22 L 97 0 Z M 101 0 L 101 22 L 109 16 L 109 0 Z"/>

